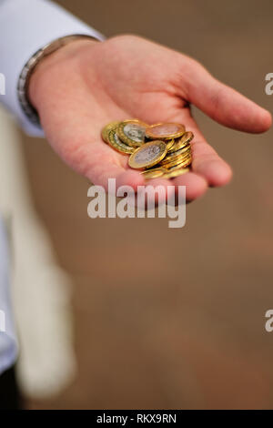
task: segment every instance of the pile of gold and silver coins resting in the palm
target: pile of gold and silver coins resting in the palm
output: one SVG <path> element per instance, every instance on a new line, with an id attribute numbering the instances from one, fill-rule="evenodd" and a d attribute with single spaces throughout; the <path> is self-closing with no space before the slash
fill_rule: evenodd
<path id="1" fill-rule="evenodd" d="M 138 119 L 111 122 L 102 130 L 104 141 L 130 155 L 129 167 L 140 169 L 146 179 L 175 178 L 189 170 L 192 132 L 178 123 L 147 125 Z"/>

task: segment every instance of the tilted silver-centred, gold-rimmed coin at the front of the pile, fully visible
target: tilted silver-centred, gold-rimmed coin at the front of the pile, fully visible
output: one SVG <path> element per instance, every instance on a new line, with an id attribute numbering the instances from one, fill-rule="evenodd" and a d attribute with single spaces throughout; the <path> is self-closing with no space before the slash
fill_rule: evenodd
<path id="1" fill-rule="evenodd" d="M 129 158 L 129 166 L 131 168 L 153 167 L 166 156 L 166 153 L 167 147 L 164 141 L 150 141 L 136 148 Z"/>

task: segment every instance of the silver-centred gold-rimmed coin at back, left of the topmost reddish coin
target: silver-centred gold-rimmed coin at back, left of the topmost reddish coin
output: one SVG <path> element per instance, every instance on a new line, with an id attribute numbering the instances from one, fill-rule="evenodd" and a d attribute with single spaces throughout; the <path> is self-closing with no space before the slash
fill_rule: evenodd
<path id="1" fill-rule="evenodd" d="M 145 142 L 147 124 L 137 119 L 120 122 L 116 128 L 118 137 L 128 146 L 139 147 Z"/>

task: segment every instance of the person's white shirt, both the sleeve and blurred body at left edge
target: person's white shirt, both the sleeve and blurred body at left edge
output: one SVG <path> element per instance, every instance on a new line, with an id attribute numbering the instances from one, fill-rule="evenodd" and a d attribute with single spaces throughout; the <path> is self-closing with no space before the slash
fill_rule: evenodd
<path id="1" fill-rule="evenodd" d="M 28 120 L 20 107 L 16 93 L 20 73 L 41 47 L 56 38 L 78 34 L 104 39 L 95 29 L 49 0 L 0 0 L 1 83 L 5 80 L 5 91 L 3 85 L 0 86 L 0 102 L 29 135 L 43 137 L 44 133 Z M 17 353 L 7 266 L 5 233 L 0 222 L 0 374 L 15 362 Z M 4 313 L 5 331 L 2 331 Z"/>

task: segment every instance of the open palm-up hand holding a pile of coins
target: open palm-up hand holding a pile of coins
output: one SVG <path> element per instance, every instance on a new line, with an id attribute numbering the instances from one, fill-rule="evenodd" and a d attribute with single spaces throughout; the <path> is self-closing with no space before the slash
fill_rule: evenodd
<path id="1" fill-rule="evenodd" d="M 137 117 L 147 123 L 179 122 L 195 134 L 192 172 L 149 185 L 186 185 L 187 200 L 208 186 L 223 186 L 232 172 L 211 148 L 191 116 L 189 103 L 217 122 L 259 133 L 271 126 L 267 110 L 211 76 L 194 59 L 137 36 L 99 43 L 77 40 L 45 58 L 31 78 L 29 97 L 45 136 L 66 163 L 92 183 L 107 187 L 144 185 L 128 157 L 107 146 L 102 127 Z"/>

